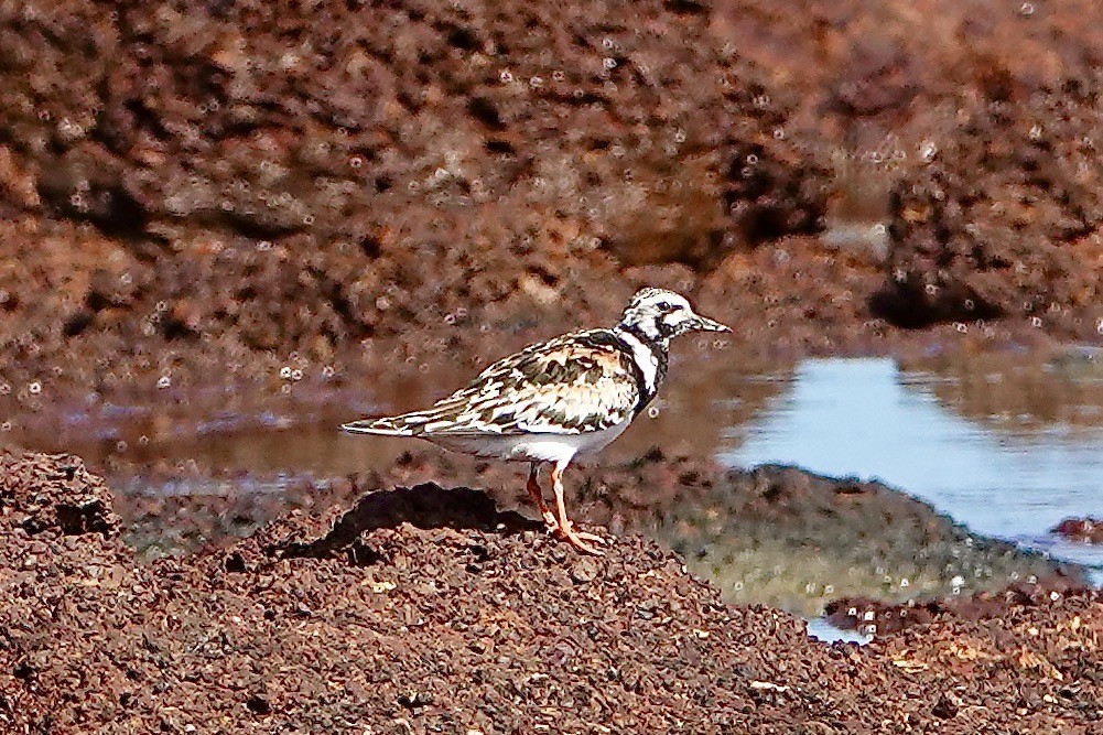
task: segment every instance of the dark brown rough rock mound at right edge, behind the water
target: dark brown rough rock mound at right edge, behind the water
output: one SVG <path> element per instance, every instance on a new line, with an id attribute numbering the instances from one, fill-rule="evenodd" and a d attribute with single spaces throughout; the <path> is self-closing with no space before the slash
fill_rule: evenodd
<path id="1" fill-rule="evenodd" d="M 1100 88 L 1068 81 L 992 99 L 896 187 L 885 312 L 912 324 L 1017 315 L 1041 324 L 1097 308 Z"/>

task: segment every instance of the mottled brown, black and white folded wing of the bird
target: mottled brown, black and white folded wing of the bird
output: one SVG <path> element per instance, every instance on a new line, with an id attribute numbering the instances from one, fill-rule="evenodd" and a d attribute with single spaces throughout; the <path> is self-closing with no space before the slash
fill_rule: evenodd
<path id="1" fill-rule="evenodd" d="M 408 414 L 422 434 L 581 434 L 631 420 L 640 400 L 631 358 L 603 330 L 533 345 Z"/>

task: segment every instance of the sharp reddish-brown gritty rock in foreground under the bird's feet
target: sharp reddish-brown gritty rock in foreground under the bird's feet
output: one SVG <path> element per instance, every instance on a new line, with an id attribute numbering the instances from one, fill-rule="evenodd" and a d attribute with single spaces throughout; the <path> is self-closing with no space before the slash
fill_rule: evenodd
<path id="1" fill-rule="evenodd" d="M 476 491 L 376 492 L 136 563 L 103 481 L 0 459 L 11 732 L 1090 733 L 1103 598 L 868 647 L 722 603 L 634 535 L 580 557 Z"/>

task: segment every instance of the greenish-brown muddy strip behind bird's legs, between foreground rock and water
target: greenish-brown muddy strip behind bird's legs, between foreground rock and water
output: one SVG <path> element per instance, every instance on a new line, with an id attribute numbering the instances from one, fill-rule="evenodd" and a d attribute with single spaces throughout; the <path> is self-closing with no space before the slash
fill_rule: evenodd
<path id="1" fill-rule="evenodd" d="M 431 504 L 452 489 L 478 488 L 500 508 L 533 516 L 515 468 L 432 449 L 346 477 L 214 472 L 195 464 L 117 477 L 125 537 L 146 557 L 223 546 L 292 509 L 346 508 L 372 490 L 411 488 Z M 975 534 L 897 489 L 791 467 L 726 470 L 653 447 L 572 468 L 567 500 L 585 522 L 681 554 L 729 601 L 805 616 L 848 596 L 906 603 L 1027 579 L 1045 589 L 1085 583 L 1077 565 Z"/>

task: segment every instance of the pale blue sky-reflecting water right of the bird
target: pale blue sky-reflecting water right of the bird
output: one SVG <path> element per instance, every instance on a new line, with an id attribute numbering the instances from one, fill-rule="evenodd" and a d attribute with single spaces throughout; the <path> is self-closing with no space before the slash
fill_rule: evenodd
<path id="1" fill-rule="evenodd" d="M 1011 364 L 982 377 L 1009 383 L 1007 373 L 1049 373 L 1103 401 L 1103 370 L 1063 370 L 1057 363 Z M 891 359 L 806 360 L 793 373 L 757 381 L 783 386 L 747 425 L 727 433 L 719 452 L 732 466 L 799 465 L 825 475 L 878 479 L 932 503 L 972 530 L 1093 567 L 1103 580 L 1103 547 L 1069 543 L 1049 530 L 1062 519 L 1103 514 L 1103 416 L 1083 402 L 1047 419 L 1042 408 L 1009 414 L 970 412 L 963 380 L 903 369 Z M 946 400 L 946 395 L 960 395 Z M 1053 397 L 1058 400 L 1057 396 Z M 955 405 L 956 404 L 956 405 Z M 966 413 L 968 412 L 968 413 Z M 972 414 L 972 415 L 971 415 Z"/>

